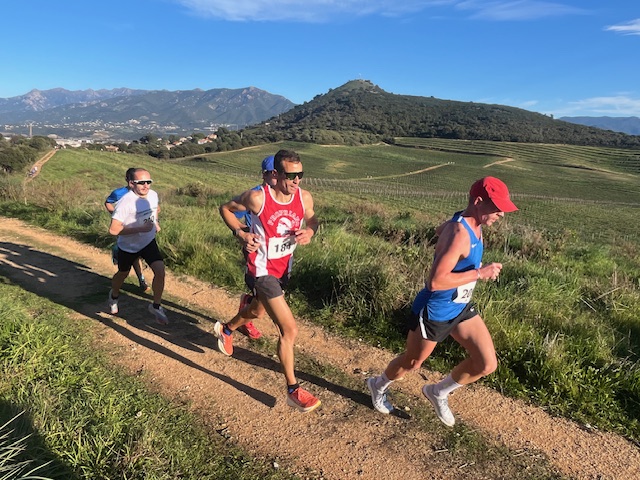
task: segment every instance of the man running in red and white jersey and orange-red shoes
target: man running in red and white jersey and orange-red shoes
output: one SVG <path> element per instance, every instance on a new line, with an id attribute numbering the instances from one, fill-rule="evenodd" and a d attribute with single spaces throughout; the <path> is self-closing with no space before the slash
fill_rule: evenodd
<path id="1" fill-rule="evenodd" d="M 261 303 L 280 334 L 278 357 L 287 382 L 287 404 L 301 412 L 310 412 L 320 406 L 320 400 L 300 387 L 296 380 L 293 345 L 298 327 L 284 298 L 283 288 L 289 277 L 294 250 L 311 241 L 318 229 L 318 220 L 311 194 L 300 188 L 304 173 L 300 156 L 293 151 L 280 150 L 274 157 L 274 167 L 277 172 L 275 186 L 248 190 L 220 207 L 224 222 L 249 251 L 247 272 L 255 297 L 248 308 L 228 323 L 216 322 L 214 332 L 220 351 L 231 355 L 234 330 L 253 320 L 257 303 Z M 238 210 L 251 213 L 249 232 L 243 230 L 244 225 L 234 215 Z"/>

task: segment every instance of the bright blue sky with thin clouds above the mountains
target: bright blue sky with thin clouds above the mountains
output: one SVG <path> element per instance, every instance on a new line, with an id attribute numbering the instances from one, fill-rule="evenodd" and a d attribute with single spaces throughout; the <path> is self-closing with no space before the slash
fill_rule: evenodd
<path id="1" fill-rule="evenodd" d="M 640 116 L 638 0 L 20 0 L 0 98 L 255 86 L 295 103 L 353 79 L 560 116 Z"/>

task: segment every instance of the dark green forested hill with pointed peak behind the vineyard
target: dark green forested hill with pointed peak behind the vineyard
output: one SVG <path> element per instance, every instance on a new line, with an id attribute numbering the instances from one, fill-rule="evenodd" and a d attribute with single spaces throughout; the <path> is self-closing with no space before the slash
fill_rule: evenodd
<path id="1" fill-rule="evenodd" d="M 437 137 L 529 143 L 638 147 L 640 136 L 554 120 L 504 105 L 395 95 L 367 80 L 352 80 L 249 128 L 265 140 L 314 143 L 392 142 Z"/>

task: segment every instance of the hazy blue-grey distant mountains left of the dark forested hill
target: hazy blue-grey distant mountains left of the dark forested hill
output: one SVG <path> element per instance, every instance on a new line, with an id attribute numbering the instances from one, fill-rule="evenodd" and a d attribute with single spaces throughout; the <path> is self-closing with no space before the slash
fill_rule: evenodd
<path id="1" fill-rule="evenodd" d="M 33 134 L 137 139 L 243 128 L 283 113 L 294 103 L 255 87 L 213 90 L 33 90 L 0 99 L 0 130 Z M 4 129 L 3 129 L 4 126 Z"/>

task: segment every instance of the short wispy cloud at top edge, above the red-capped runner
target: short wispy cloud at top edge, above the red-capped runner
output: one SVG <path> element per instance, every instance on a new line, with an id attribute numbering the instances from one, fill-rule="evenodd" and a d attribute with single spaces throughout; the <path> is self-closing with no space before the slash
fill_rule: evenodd
<path id="1" fill-rule="evenodd" d="M 486 1 L 468 0 L 456 5 L 459 10 L 470 10 L 472 18 L 496 21 L 537 20 L 565 15 L 584 15 L 588 12 L 562 3 L 535 0 Z"/>

